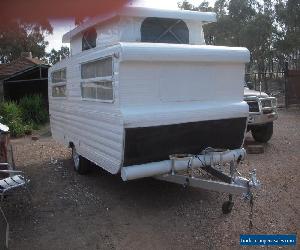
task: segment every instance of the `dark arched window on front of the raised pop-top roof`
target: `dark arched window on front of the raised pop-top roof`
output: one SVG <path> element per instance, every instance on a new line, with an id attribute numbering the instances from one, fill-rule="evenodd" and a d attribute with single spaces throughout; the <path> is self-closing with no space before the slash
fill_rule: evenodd
<path id="1" fill-rule="evenodd" d="M 189 44 L 189 29 L 181 19 L 148 17 L 141 26 L 141 41 Z"/>

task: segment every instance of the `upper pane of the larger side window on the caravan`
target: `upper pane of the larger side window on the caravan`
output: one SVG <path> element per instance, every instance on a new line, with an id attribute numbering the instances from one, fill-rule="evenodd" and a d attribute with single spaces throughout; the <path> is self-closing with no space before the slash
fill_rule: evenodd
<path id="1" fill-rule="evenodd" d="M 82 79 L 106 77 L 112 75 L 112 58 L 107 57 L 81 65 Z"/>

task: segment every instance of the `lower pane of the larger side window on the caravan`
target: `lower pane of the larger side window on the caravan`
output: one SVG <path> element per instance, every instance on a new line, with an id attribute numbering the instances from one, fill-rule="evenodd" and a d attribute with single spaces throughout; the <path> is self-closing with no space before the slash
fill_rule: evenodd
<path id="1" fill-rule="evenodd" d="M 103 101 L 113 100 L 113 86 L 111 81 L 89 82 L 81 84 L 82 98 Z"/>

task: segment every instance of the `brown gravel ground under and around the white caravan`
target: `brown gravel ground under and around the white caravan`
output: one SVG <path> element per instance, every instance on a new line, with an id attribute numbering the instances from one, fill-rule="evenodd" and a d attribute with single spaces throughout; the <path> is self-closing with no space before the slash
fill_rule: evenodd
<path id="1" fill-rule="evenodd" d="M 70 151 L 45 131 L 38 141 L 12 140 L 32 201 L 26 193 L 5 201 L 10 249 L 240 249 L 240 234 L 299 234 L 299 125 L 300 109 L 281 110 L 265 153 L 248 155 L 240 168 L 256 168 L 262 182 L 252 229 L 249 203 L 238 196 L 223 215 L 226 194 L 151 178 L 124 183 L 96 167 L 80 176 Z"/>

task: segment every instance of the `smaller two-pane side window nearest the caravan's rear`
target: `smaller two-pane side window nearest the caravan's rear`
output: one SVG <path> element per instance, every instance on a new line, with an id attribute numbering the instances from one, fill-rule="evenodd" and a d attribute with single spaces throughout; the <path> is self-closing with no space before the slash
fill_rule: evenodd
<path id="1" fill-rule="evenodd" d="M 51 73 L 52 96 L 66 97 L 67 69 L 59 69 Z"/>

